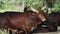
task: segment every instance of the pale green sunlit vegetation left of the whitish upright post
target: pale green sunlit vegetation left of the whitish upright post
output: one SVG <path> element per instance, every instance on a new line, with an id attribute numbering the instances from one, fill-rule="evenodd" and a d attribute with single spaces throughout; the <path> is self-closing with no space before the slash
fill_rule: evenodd
<path id="1" fill-rule="evenodd" d="M 0 12 L 8 10 L 16 10 L 20 6 L 20 0 L 0 0 Z"/>

